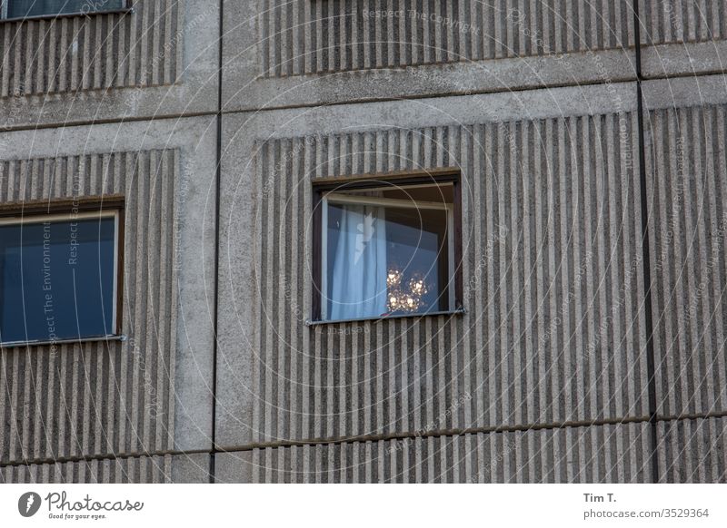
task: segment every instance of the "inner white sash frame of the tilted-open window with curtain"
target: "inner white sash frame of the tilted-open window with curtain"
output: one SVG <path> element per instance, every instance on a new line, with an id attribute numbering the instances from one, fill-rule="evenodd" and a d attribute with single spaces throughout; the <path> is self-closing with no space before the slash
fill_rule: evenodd
<path id="1" fill-rule="evenodd" d="M 445 185 L 445 184 L 442 184 Z M 416 187 L 435 187 L 436 185 L 407 185 L 403 189 L 413 189 Z M 389 188 L 365 189 L 363 191 L 387 191 Z M 328 204 L 342 203 L 352 205 L 373 205 L 383 207 L 396 207 L 399 209 L 428 209 L 428 210 L 446 210 L 447 211 L 447 263 L 448 263 L 448 283 L 447 283 L 447 302 L 448 307 L 445 312 L 454 309 L 454 204 L 444 203 L 441 201 L 419 201 L 419 200 L 395 200 L 393 198 L 373 198 L 369 196 L 359 196 L 352 194 L 344 194 L 341 192 L 326 192 L 321 199 L 321 322 L 331 323 L 337 319 L 328 318 Z M 417 315 L 433 315 L 440 312 L 422 312 L 414 313 Z M 371 319 L 379 319 L 381 317 L 371 317 Z M 369 318 L 356 318 L 356 320 L 365 320 Z M 348 320 L 348 319 L 344 319 Z"/>

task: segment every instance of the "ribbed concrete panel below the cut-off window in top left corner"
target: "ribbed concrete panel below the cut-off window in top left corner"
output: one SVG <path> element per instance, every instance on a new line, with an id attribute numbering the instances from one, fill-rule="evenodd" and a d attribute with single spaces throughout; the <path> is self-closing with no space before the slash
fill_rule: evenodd
<path id="1" fill-rule="evenodd" d="M 176 83 L 182 1 L 132 5 L 133 13 L 0 24 L 0 96 Z"/>

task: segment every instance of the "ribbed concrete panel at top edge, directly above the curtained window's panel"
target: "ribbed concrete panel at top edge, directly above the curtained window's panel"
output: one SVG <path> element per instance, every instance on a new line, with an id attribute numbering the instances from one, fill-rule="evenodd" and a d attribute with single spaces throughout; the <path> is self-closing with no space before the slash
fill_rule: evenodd
<path id="1" fill-rule="evenodd" d="M 627 48 L 631 0 L 261 0 L 264 76 Z"/>

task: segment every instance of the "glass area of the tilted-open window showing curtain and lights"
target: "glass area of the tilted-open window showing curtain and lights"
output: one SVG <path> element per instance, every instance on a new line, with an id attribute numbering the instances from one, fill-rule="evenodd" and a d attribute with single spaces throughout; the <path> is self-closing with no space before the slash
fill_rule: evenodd
<path id="1" fill-rule="evenodd" d="M 361 203 L 336 201 L 341 194 Z M 451 185 L 335 195 L 329 196 L 325 235 L 326 319 L 450 308 L 448 211 L 441 206 L 451 203 Z"/>

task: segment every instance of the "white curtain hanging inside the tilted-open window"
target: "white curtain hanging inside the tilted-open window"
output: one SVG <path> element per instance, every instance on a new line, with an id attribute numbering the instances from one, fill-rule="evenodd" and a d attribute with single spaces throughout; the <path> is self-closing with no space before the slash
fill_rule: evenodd
<path id="1" fill-rule="evenodd" d="M 328 292 L 329 319 L 367 318 L 386 311 L 384 208 L 345 205 Z"/>

